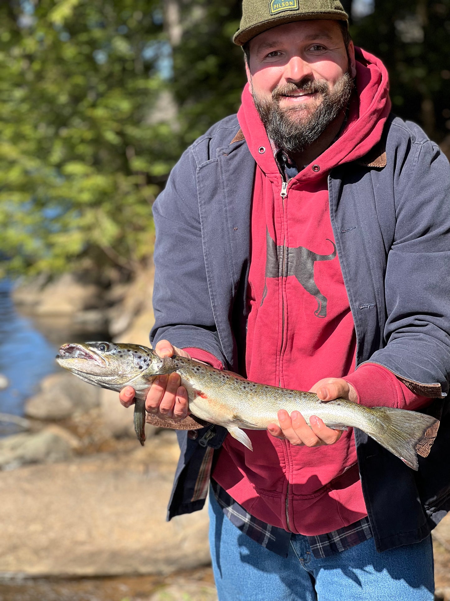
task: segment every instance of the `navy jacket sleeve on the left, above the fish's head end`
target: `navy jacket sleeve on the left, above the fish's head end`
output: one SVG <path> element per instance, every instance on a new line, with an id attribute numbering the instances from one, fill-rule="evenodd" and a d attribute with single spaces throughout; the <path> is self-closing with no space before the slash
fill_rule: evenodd
<path id="1" fill-rule="evenodd" d="M 154 345 L 197 347 L 227 365 L 212 313 L 203 257 L 196 160 L 188 148 L 153 206 L 155 221 Z"/>

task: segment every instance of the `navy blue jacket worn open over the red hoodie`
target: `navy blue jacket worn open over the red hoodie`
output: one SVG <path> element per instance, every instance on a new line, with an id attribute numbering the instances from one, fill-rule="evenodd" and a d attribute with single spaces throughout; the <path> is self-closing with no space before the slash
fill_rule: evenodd
<path id="1" fill-rule="evenodd" d="M 151 332 L 153 344 L 166 338 L 205 349 L 233 371 L 242 371 L 245 355 L 256 166 L 238 132 L 236 115 L 211 127 L 182 155 L 154 204 Z M 450 508 L 450 166 L 416 124 L 393 115 L 382 147 L 369 154 L 328 178 L 356 367 L 384 365 L 418 394 L 434 397 L 427 411 L 442 420 L 417 473 L 355 430 L 368 517 L 384 551 L 419 542 Z M 181 457 L 169 519 L 203 506 L 204 499 L 193 500 L 200 466 L 226 430 L 210 426 L 196 440 L 177 434 Z"/>

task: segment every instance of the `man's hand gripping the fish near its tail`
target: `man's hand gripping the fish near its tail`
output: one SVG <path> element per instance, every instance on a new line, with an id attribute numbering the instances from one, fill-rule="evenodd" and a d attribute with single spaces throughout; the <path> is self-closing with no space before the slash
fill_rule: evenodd
<path id="1" fill-rule="evenodd" d="M 322 401 L 346 398 L 356 403 L 358 400 L 355 388 L 342 378 L 328 377 L 319 380 L 310 392 L 316 392 Z M 268 431 L 272 436 L 288 440 L 292 445 L 306 445 L 307 447 L 332 445 L 341 438 L 342 434 L 341 430 L 327 428 L 322 419 L 315 415 L 311 415 L 311 427 L 309 427 L 305 418 L 298 411 L 293 411 L 289 415 L 287 411 L 281 409 L 278 411 L 278 421 L 280 426 L 269 424 Z"/>

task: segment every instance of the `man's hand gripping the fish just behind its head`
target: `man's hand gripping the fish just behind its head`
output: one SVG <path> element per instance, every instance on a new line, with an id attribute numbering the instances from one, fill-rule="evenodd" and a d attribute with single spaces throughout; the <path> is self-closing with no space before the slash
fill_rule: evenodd
<path id="1" fill-rule="evenodd" d="M 172 346 L 167 340 L 160 340 L 155 347 L 155 352 L 160 357 L 172 357 L 181 355 L 191 358 L 189 353 Z M 184 386 L 180 386 L 179 374 L 164 374 L 157 376 L 147 393 L 145 408 L 149 413 L 154 413 L 158 418 L 172 418 L 175 421 L 184 419 L 188 411 L 188 395 Z M 130 407 L 134 403 L 134 389 L 131 386 L 122 388 L 119 399 L 124 407 Z"/>

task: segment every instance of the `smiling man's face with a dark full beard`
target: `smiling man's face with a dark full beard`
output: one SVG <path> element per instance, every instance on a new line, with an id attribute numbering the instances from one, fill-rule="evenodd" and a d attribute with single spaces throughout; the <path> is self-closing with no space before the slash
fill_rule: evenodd
<path id="1" fill-rule="evenodd" d="M 355 73 L 353 43 L 346 48 L 332 20 L 279 25 L 250 41 L 254 103 L 269 137 L 287 151 L 303 150 L 335 120 Z"/>

